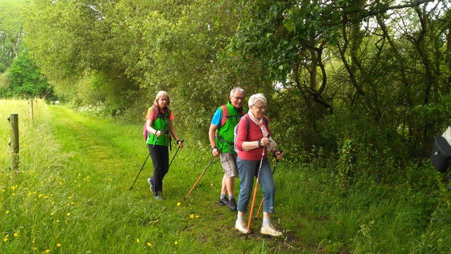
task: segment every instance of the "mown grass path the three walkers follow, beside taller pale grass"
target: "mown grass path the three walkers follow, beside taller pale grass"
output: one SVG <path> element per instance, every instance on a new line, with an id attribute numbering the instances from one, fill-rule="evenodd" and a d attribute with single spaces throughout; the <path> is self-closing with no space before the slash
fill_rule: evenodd
<path id="1" fill-rule="evenodd" d="M 54 135 L 68 157 L 65 167 L 73 174 L 77 190 L 72 199 L 82 206 L 74 230 L 85 239 L 83 248 L 91 250 L 94 244 L 95 252 L 152 248 L 161 253 L 261 253 L 289 247 L 284 242 L 287 238 L 262 238 L 261 222 L 254 222 L 255 233 L 249 236 L 259 241 L 246 240 L 234 229 L 236 212 L 216 205 L 222 177 L 219 162 L 211 164 L 190 198 L 183 201 L 211 159 L 193 145 L 186 143 L 178 152 L 164 179 L 165 200 L 153 200 L 146 181 L 152 172 L 151 159 L 129 191 L 147 156 L 140 128 L 87 119 L 65 107 L 50 109 Z M 170 152 L 171 158 L 175 151 Z M 193 153 L 199 155 L 194 162 Z"/>

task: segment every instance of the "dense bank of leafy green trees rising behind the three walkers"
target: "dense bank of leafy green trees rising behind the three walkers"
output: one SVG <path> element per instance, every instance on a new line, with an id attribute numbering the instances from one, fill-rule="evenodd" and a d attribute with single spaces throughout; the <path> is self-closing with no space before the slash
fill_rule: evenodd
<path id="1" fill-rule="evenodd" d="M 143 121 L 167 90 L 199 139 L 232 87 L 264 92 L 288 156 L 355 150 L 353 170 L 428 152 L 447 117 L 449 13 L 430 0 L 32 0 L 27 44 L 58 95 Z"/>

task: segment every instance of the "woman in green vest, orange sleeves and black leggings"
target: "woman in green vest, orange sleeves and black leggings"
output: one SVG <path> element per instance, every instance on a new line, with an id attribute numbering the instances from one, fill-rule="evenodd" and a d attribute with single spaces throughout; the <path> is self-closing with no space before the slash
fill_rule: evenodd
<path id="1" fill-rule="evenodd" d="M 147 182 L 149 182 L 150 191 L 154 193 L 156 200 L 162 198 L 163 178 L 169 170 L 168 145 L 171 143 L 171 135 L 177 140 L 179 147 L 183 147 L 183 142 L 178 139 L 173 127 L 174 115 L 168 108 L 170 102 L 167 92 L 158 92 L 154 106 L 147 110 L 146 116 L 146 128 L 150 133 L 147 138 L 147 147 L 149 147 L 150 157 L 154 163 L 154 175 L 147 179 Z"/>

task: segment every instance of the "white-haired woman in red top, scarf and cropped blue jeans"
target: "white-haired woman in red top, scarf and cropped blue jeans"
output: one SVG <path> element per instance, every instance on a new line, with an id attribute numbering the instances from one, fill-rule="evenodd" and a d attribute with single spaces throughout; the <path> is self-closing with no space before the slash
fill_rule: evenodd
<path id="1" fill-rule="evenodd" d="M 245 212 L 252 194 L 254 177 L 259 175 L 260 188 L 263 191 L 263 224 L 260 233 L 270 236 L 282 236 L 271 224 L 274 213 L 274 184 L 268 152 L 281 159 L 283 152 L 276 150 L 276 142 L 271 138 L 266 112 L 266 98 L 261 93 L 249 98 L 249 112 L 240 120 L 237 128 L 235 147 L 237 149 L 237 166 L 240 173 L 240 195 L 238 196 L 238 217 L 235 229 L 243 234 L 250 233 L 244 220 Z M 269 135 L 268 135 L 269 134 Z M 269 138 L 267 138 L 269 137 Z M 260 171 L 260 172 L 259 172 Z"/>

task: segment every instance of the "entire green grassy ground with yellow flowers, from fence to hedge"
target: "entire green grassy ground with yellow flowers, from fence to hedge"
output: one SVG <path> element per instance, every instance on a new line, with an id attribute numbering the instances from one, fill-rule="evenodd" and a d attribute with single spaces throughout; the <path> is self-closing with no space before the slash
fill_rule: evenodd
<path id="1" fill-rule="evenodd" d="M 178 130 L 185 147 L 163 180 L 164 200 L 154 200 L 151 159 L 130 191 L 147 157 L 141 124 L 44 102 L 34 113 L 26 101 L 0 100 L 1 253 L 451 253 L 451 195 L 430 165 L 407 183 L 343 191 L 330 169 L 281 160 L 272 222 L 284 236 L 261 236 L 260 216 L 245 237 L 236 212 L 216 204 L 218 159 L 184 200 L 211 160 L 201 138 Z M 9 169 L 10 114 L 19 114 L 18 172 Z"/>

